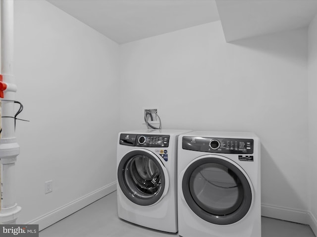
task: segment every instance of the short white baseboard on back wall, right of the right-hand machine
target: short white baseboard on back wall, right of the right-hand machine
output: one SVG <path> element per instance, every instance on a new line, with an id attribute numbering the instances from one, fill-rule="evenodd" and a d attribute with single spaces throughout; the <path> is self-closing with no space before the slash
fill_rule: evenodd
<path id="1" fill-rule="evenodd" d="M 266 204 L 261 205 L 261 215 L 305 225 L 310 225 L 311 223 L 311 216 L 310 212 L 308 211 L 271 206 Z"/>

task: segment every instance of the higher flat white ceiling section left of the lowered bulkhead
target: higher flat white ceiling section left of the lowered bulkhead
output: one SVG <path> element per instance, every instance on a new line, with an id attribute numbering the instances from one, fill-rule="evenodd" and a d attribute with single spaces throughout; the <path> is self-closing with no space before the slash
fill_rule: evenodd
<path id="1" fill-rule="evenodd" d="M 117 43 L 219 20 L 214 0 L 48 0 Z"/>

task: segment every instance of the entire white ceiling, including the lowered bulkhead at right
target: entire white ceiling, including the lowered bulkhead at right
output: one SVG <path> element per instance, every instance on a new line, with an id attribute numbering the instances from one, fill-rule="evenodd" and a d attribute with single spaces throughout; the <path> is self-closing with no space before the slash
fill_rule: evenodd
<path id="1" fill-rule="evenodd" d="M 317 0 L 48 0 L 117 43 L 221 20 L 226 41 L 308 26 Z"/>

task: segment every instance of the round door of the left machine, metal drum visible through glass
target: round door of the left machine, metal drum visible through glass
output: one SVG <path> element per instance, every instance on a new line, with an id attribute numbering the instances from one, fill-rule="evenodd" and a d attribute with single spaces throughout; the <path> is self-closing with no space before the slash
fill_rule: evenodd
<path id="1" fill-rule="evenodd" d="M 118 165 L 117 177 L 123 194 L 138 205 L 154 205 L 168 190 L 166 168 L 153 152 L 145 149 L 125 154 Z"/>

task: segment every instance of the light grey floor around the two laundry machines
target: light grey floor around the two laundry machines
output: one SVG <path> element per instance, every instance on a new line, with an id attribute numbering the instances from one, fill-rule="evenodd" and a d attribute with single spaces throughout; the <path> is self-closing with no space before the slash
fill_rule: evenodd
<path id="1" fill-rule="evenodd" d="M 117 217 L 116 192 L 40 232 L 40 237 L 178 237 Z M 262 237 L 315 237 L 309 226 L 262 217 Z"/>

